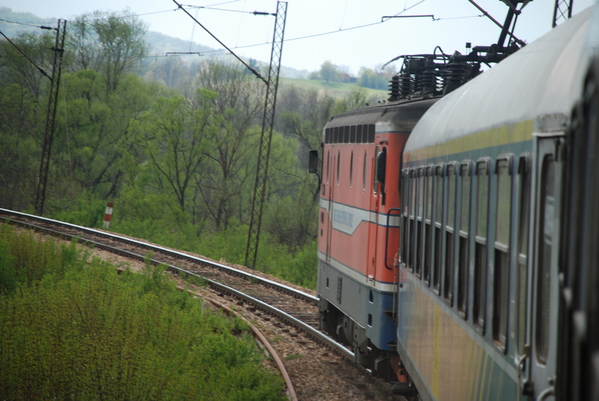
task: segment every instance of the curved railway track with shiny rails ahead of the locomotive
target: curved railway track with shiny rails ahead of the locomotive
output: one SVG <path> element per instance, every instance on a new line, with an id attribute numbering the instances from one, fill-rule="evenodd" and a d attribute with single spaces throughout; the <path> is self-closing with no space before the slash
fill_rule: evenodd
<path id="1" fill-rule="evenodd" d="M 198 277 L 218 293 L 237 298 L 240 305 L 247 304 L 250 311 L 255 309 L 276 317 L 345 359 L 354 360 L 352 350 L 319 331 L 318 298 L 304 291 L 201 257 L 97 229 L 1 208 L 0 220 L 61 238 L 79 238 L 82 243 L 117 255 L 149 261 L 154 265 L 166 265 L 169 272 L 179 276 Z"/>

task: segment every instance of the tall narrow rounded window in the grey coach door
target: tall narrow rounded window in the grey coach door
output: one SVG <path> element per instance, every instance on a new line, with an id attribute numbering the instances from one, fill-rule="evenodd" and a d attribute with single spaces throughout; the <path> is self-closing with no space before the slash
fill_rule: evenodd
<path id="1" fill-rule="evenodd" d="M 549 350 L 549 312 L 550 312 L 550 268 L 553 242 L 553 219 L 555 218 L 555 160 L 552 155 L 545 156 L 541 172 L 541 215 L 538 236 L 538 276 L 537 276 L 537 315 L 536 315 L 536 352 L 538 361 L 547 362 Z"/>

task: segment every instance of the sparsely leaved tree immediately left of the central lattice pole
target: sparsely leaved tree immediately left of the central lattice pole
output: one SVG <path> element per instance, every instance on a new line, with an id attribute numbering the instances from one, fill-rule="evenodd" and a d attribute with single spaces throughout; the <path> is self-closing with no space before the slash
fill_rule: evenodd
<path id="1" fill-rule="evenodd" d="M 214 113 L 222 116 L 218 130 L 211 133 L 214 148 L 197 189 L 216 229 L 226 229 L 234 215 L 243 222 L 247 215 L 244 211 L 250 207 L 265 88 L 244 68 L 221 61 L 205 63 L 197 83 L 218 93 L 214 98 L 198 100 L 211 103 Z"/>

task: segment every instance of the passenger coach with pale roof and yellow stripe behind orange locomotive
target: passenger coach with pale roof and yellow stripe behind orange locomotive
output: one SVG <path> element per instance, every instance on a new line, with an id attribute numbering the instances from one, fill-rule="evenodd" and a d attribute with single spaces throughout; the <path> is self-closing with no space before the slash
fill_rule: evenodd
<path id="1" fill-rule="evenodd" d="M 397 349 L 423 400 L 553 399 L 588 11 L 445 96 L 401 167 Z"/>

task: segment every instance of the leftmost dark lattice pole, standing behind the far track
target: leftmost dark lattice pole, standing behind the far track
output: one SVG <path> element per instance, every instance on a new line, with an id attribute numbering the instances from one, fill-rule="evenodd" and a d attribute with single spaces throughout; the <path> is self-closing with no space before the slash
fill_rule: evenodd
<path id="1" fill-rule="evenodd" d="M 56 28 L 56 41 L 54 43 L 54 47 L 51 48 L 51 50 L 54 51 L 54 63 L 52 64 L 52 75 L 50 77 L 50 94 L 48 99 L 48 112 L 46 115 L 46 128 L 44 129 L 42 159 L 39 162 L 39 176 L 37 178 L 37 191 L 35 193 L 35 210 L 40 216 L 44 214 L 44 200 L 46 197 L 46 184 L 48 181 L 50 154 L 52 151 L 52 141 L 54 140 L 58 88 L 60 87 L 61 83 L 61 68 L 63 63 L 65 32 L 66 20 L 58 20 L 58 27 Z M 44 73 L 44 75 L 46 74 Z"/>

